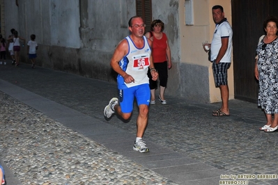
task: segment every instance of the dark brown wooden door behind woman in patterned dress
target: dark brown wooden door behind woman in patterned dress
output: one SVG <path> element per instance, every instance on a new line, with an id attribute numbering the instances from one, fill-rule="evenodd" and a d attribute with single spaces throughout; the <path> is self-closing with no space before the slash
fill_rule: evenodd
<path id="1" fill-rule="evenodd" d="M 254 65 L 258 38 L 264 34 L 263 21 L 278 17 L 277 0 L 232 0 L 233 72 L 235 98 L 257 102 L 258 81 Z"/>

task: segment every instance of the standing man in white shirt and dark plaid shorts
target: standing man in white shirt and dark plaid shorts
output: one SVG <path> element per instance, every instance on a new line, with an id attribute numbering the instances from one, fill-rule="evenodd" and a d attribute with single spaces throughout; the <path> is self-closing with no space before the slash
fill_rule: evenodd
<path id="1" fill-rule="evenodd" d="M 230 115 L 229 111 L 229 86 L 227 71 L 231 66 L 231 48 L 233 30 L 224 15 L 222 6 L 215 5 L 213 10 L 213 21 L 215 22 L 215 32 L 210 47 L 210 61 L 213 63 L 213 76 L 215 86 L 220 88 L 222 106 L 213 111 L 214 116 Z M 206 45 L 203 49 L 207 52 Z"/>

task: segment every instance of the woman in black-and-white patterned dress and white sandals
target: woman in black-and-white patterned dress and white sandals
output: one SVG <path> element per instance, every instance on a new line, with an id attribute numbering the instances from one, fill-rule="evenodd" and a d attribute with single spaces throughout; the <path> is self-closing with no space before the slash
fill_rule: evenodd
<path id="1" fill-rule="evenodd" d="M 265 112 L 267 123 L 260 128 L 264 131 L 278 129 L 278 19 L 268 17 L 263 22 L 265 37 L 256 49 L 255 77 L 258 79 L 258 106 Z M 272 120 L 272 114 L 274 119 Z"/>

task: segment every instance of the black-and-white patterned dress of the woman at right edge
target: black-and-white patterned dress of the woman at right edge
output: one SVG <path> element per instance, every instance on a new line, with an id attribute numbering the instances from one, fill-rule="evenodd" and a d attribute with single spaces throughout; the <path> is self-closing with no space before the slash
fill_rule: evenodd
<path id="1" fill-rule="evenodd" d="M 278 113 L 278 38 L 265 44 L 261 40 L 258 54 L 258 106 L 265 113 Z"/>

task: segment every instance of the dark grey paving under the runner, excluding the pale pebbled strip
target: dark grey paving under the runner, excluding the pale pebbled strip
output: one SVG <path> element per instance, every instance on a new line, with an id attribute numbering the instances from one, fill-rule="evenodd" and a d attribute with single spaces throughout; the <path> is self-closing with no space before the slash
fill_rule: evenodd
<path id="1" fill-rule="evenodd" d="M 0 90 L 177 184 L 219 184 L 220 175 L 278 175 L 278 132 L 258 130 L 265 117 L 256 104 L 233 99 L 231 115 L 216 118 L 211 112 L 218 103 L 166 95 L 167 105 L 157 99 L 150 106 L 144 136 L 150 152 L 141 154 L 132 150 L 136 106 L 128 122 L 103 117 L 117 95 L 116 83 L 8 62 L 0 65 Z M 249 184 L 278 184 L 278 179 L 244 177 Z"/>

